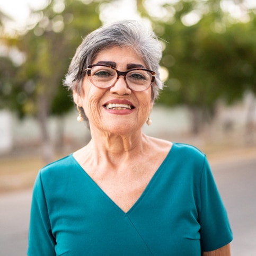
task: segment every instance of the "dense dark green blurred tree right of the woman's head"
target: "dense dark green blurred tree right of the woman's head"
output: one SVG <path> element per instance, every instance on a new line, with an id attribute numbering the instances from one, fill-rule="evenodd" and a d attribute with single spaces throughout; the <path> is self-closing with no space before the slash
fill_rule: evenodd
<path id="1" fill-rule="evenodd" d="M 162 65 L 169 72 L 159 102 L 186 104 L 193 133 L 214 116 L 218 99 L 232 103 L 255 86 L 255 14 L 246 10 L 251 17 L 242 23 L 225 12 L 221 3 L 165 4 L 166 16 L 153 18 L 155 32 L 165 45 Z"/>

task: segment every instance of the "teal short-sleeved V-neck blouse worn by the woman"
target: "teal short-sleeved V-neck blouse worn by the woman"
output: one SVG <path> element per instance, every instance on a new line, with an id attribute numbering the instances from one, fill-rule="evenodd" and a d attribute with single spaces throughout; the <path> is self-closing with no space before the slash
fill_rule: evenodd
<path id="1" fill-rule="evenodd" d="M 190 255 L 232 240 L 204 154 L 173 144 L 133 207 L 124 213 L 72 154 L 34 183 L 28 255 Z"/>

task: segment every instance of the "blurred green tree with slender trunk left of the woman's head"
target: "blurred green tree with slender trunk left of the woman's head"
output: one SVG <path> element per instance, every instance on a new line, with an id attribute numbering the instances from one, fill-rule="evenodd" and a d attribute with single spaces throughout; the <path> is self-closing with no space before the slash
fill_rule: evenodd
<path id="1" fill-rule="evenodd" d="M 53 149 L 48 117 L 61 115 L 73 106 L 61 81 L 82 37 L 101 25 L 98 7 L 99 2 L 51 1 L 33 14 L 39 21 L 19 38 L 17 46 L 27 60 L 17 72 L 16 86 L 26 94 L 23 114 L 38 118 L 46 162 L 51 161 Z"/>

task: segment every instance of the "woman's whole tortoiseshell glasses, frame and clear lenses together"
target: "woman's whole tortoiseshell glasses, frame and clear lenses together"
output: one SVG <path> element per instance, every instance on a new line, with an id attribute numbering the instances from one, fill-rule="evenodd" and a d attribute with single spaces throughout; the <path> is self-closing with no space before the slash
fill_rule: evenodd
<path id="1" fill-rule="evenodd" d="M 147 90 L 155 80 L 155 72 L 145 68 L 134 68 L 121 72 L 108 65 L 95 64 L 88 65 L 85 71 L 92 84 L 102 89 L 114 86 L 120 76 L 123 76 L 127 86 L 136 92 Z"/>

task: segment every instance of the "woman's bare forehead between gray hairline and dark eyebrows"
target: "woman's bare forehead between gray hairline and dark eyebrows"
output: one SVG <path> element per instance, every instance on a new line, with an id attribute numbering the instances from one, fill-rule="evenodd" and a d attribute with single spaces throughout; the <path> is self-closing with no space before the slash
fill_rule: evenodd
<path id="1" fill-rule="evenodd" d="M 117 67 L 131 63 L 145 67 L 144 60 L 138 52 L 127 46 L 114 46 L 99 51 L 92 64 L 100 63 L 101 61 L 116 63 Z"/>

